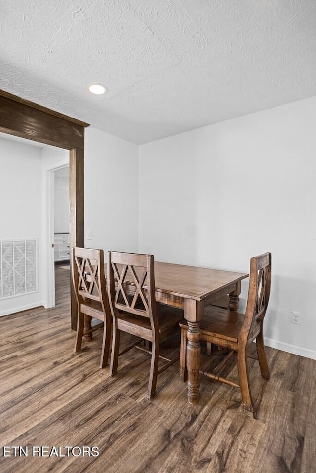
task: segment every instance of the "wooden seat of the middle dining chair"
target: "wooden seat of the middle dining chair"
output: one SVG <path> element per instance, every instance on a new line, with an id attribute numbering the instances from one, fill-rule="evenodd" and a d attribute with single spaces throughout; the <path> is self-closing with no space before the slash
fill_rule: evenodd
<path id="1" fill-rule="evenodd" d="M 183 311 L 175 307 L 157 304 L 160 340 L 174 332 L 175 327 L 183 319 Z M 135 328 L 136 326 L 136 328 Z M 152 327 L 150 319 L 127 312 L 120 312 L 118 316 L 118 329 L 152 340 Z"/>

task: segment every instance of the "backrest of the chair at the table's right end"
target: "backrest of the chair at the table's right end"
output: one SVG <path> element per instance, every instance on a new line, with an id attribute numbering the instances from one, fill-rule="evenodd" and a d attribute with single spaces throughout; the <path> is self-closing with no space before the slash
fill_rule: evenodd
<path id="1" fill-rule="evenodd" d="M 271 253 L 250 260 L 250 280 L 245 319 L 240 335 L 250 338 L 267 312 L 271 287 Z"/>

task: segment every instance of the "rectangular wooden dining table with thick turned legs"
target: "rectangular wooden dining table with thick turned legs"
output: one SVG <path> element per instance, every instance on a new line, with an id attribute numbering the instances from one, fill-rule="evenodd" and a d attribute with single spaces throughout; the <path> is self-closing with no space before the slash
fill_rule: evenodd
<path id="1" fill-rule="evenodd" d="M 107 268 L 105 264 L 105 274 Z M 241 281 L 249 275 L 197 266 L 155 261 L 156 301 L 184 310 L 187 330 L 187 396 L 190 404 L 199 400 L 200 322 L 204 307 L 229 294 L 229 307 L 237 311 Z"/>

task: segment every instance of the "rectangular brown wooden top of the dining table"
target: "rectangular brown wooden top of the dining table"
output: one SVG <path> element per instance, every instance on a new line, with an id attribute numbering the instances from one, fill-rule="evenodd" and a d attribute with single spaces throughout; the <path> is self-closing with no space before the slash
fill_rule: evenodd
<path id="1" fill-rule="evenodd" d="M 248 276 L 246 273 L 236 273 L 234 271 L 155 261 L 156 292 L 163 292 L 184 299 L 201 301 L 210 294 L 221 291 L 226 286 L 229 287 Z"/>

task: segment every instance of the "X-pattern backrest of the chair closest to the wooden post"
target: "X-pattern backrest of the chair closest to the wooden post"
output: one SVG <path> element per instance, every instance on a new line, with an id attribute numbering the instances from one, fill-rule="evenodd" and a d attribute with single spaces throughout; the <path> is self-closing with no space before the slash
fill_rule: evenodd
<path id="1" fill-rule="evenodd" d="M 72 280 L 77 304 L 91 299 L 101 303 L 103 312 L 110 315 L 104 274 L 104 252 L 90 248 L 72 249 Z"/>

